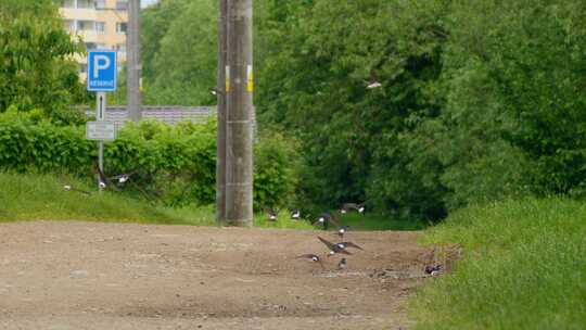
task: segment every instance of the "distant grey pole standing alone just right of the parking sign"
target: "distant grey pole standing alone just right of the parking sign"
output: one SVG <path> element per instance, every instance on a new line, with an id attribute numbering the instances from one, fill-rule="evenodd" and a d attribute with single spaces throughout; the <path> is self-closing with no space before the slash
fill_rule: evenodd
<path id="1" fill-rule="evenodd" d="M 140 0 L 128 0 L 128 24 L 126 26 L 127 63 L 127 111 L 128 118 L 138 123 L 142 116 L 140 100 Z"/>

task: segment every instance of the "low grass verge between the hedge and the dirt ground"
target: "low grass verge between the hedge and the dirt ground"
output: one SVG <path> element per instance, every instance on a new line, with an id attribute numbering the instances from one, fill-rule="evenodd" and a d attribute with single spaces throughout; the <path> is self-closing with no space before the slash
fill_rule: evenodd
<path id="1" fill-rule="evenodd" d="M 76 191 L 65 191 L 64 185 L 89 191 L 86 195 Z M 68 176 L 14 174 L 0 172 L 0 221 L 16 220 L 89 220 L 142 223 L 163 225 L 216 226 L 213 205 L 183 208 L 153 205 L 125 193 L 97 192 L 95 187 Z M 256 214 L 254 227 L 314 229 L 305 220 L 289 218 L 286 212 L 279 214 L 277 221 L 269 221 L 267 215 Z M 419 221 L 394 220 L 378 215 L 344 215 L 340 220 L 351 230 L 418 230 Z"/>

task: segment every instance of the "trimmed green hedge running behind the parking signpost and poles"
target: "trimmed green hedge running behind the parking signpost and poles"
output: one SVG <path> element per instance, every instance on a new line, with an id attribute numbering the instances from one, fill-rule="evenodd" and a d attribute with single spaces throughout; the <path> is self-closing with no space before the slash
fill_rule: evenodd
<path id="1" fill-rule="evenodd" d="M 0 115 L 0 168 L 94 175 L 98 148 L 85 139 L 85 127 L 55 126 L 41 117 L 35 112 Z M 259 140 L 255 154 L 255 207 L 284 205 L 296 183 L 293 144 L 275 134 Z M 215 122 L 127 124 L 104 145 L 104 172 L 132 173 L 120 189 L 166 205 L 209 204 L 215 199 Z"/>

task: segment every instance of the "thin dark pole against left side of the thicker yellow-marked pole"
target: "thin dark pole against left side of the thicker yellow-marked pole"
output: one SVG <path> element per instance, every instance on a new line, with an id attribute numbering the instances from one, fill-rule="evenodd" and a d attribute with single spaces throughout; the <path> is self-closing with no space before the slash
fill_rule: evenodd
<path id="1" fill-rule="evenodd" d="M 226 60 L 228 33 L 228 0 L 219 0 L 218 16 L 218 72 L 216 96 L 218 98 L 218 139 L 216 154 L 216 221 L 226 221 Z"/>

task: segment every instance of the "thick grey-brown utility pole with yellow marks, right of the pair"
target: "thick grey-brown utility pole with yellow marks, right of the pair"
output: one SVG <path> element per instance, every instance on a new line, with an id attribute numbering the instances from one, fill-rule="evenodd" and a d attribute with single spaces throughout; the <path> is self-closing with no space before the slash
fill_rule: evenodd
<path id="1" fill-rule="evenodd" d="M 228 0 L 226 217 L 233 226 L 253 218 L 252 0 Z"/>

